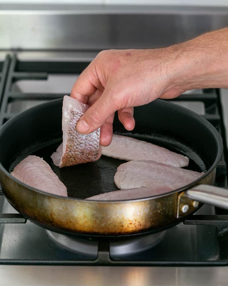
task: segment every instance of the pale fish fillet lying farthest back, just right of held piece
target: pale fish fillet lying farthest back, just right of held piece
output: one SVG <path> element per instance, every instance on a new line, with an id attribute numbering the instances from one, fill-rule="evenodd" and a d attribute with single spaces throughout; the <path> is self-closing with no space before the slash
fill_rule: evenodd
<path id="1" fill-rule="evenodd" d="M 188 157 L 166 148 L 116 134 L 113 134 L 111 144 L 102 148 L 102 155 L 126 161 L 152 160 L 174 167 L 185 167 L 189 163 Z"/>

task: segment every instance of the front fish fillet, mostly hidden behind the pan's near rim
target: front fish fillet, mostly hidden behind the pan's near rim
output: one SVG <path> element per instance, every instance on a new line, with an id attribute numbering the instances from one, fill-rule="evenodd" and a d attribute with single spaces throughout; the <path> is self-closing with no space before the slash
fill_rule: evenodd
<path id="1" fill-rule="evenodd" d="M 139 198 L 152 197 L 171 191 L 170 188 L 133 188 L 128 190 L 118 190 L 92 196 L 86 200 L 135 200 Z"/>

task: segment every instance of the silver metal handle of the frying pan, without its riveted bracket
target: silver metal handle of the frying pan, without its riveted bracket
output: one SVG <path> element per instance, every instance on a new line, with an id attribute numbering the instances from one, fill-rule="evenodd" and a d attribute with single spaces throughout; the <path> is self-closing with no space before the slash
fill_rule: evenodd
<path id="1" fill-rule="evenodd" d="M 228 209 L 228 189 L 199 184 L 185 193 L 191 200 Z"/>

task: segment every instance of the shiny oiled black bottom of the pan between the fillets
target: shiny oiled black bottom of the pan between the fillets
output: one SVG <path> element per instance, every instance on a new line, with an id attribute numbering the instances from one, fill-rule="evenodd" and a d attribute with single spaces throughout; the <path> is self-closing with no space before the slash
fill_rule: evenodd
<path id="1" fill-rule="evenodd" d="M 189 166 L 187 168 L 190 170 L 201 172 L 207 169 L 200 156 L 196 154 L 194 150 L 175 139 L 170 137 L 166 138 L 158 134 L 142 135 L 125 133 L 123 135 L 132 136 L 139 140 L 151 142 L 161 147 L 168 148 L 171 151 L 187 155 L 190 158 Z M 117 167 L 126 161 L 101 156 L 96 162 L 58 168 L 53 164 L 50 156 L 56 150 L 60 142 L 61 140 L 58 143 L 49 146 L 45 144 L 45 147 L 32 152 L 32 154 L 42 157 L 50 164 L 54 172 L 67 187 L 69 197 L 84 199 L 104 192 L 117 190 L 117 187 L 114 184 L 114 175 Z M 11 166 L 14 167 L 13 164 Z"/>

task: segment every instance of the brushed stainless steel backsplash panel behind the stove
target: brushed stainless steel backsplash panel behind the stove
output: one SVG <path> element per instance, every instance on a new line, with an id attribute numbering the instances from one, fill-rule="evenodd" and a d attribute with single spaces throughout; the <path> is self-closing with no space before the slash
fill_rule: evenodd
<path id="1" fill-rule="evenodd" d="M 228 7 L 0 5 L 0 49 L 164 47 L 228 25 Z"/>

